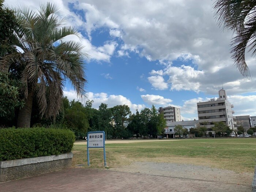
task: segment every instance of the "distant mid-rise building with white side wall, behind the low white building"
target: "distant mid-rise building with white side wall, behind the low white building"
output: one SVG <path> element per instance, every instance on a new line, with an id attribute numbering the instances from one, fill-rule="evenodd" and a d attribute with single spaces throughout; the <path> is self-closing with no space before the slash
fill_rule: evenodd
<path id="1" fill-rule="evenodd" d="M 176 107 L 160 107 L 158 109 L 158 114 L 163 113 L 163 117 L 166 120 L 166 123 L 174 122 L 174 121 L 181 121 L 180 117 L 180 108 Z"/>

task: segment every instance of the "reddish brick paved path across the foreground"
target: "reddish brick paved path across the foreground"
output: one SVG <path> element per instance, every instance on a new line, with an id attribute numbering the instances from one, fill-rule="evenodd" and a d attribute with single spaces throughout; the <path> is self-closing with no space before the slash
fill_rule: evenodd
<path id="1" fill-rule="evenodd" d="M 0 183 L 0 192 L 251 192 L 250 185 L 123 173 L 95 169 L 64 169 Z"/>

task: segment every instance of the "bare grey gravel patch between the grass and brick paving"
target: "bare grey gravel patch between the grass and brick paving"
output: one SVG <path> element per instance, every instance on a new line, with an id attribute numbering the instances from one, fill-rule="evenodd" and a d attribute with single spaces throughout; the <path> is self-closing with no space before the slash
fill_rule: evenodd
<path id="1" fill-rule="evenodd" d="M 178 163 L 133 162 L 130 165 L 110 168 L 110 170 L 238 185 L 251 185 L 253 178 L 253 173 L 236 173 L 230 170 Z"/>

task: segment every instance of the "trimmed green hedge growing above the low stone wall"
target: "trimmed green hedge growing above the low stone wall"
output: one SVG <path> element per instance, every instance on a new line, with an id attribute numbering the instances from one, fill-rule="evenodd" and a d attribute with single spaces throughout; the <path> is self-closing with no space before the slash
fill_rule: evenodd
<path id="1" fill-rule="evenodd" d="M 67 129 L 0 129 L 0 161 L 69 153 L 74 142 Z"/>

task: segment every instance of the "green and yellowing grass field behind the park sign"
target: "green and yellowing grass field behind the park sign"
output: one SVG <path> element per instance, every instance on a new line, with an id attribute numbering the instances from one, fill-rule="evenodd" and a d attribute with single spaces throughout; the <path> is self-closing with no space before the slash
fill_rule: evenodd
<path id="1" fill-rule="evenodd" d="M 106 144 L 105 148 L 109 167 L 120 167 L 134 161 L 150 161 L 203 165 L 237 173 L 253 173 L 256 164 L 256 138 L 138 141 Z M 89 150 L 90 167 L 102 168 L 103 149 Z M 84 167 L 87 167 L 86 145 L 75 143 L 72 152 L 72 165 L 86 164 Z"/>

